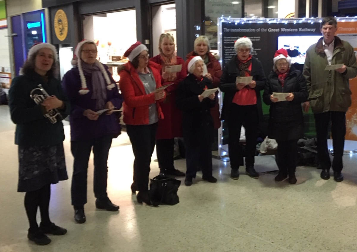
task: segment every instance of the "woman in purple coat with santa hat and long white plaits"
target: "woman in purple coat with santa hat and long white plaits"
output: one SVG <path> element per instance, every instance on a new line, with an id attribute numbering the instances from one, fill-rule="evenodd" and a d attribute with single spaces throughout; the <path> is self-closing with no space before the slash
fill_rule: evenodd
<path id="1" fill-rule="evenodd" d="M 71 151 L 74 157 L 71 186 L 74 219 L 86 221 L 87 169 L 93 147 L 94 195 L 96 208 L 118 211 L 107 195 L 107 159 L 112 138 L 120 134 L 113 109 L 120 109 L 122 98 L 107 67 L 97 61 L 97 47 L 93 41 L 83 40 L 75 49 L 74 68 L 63 78 L 63 88 L 71 102 Z M 102 114 L 97 111 L 109 109 Z"/>

